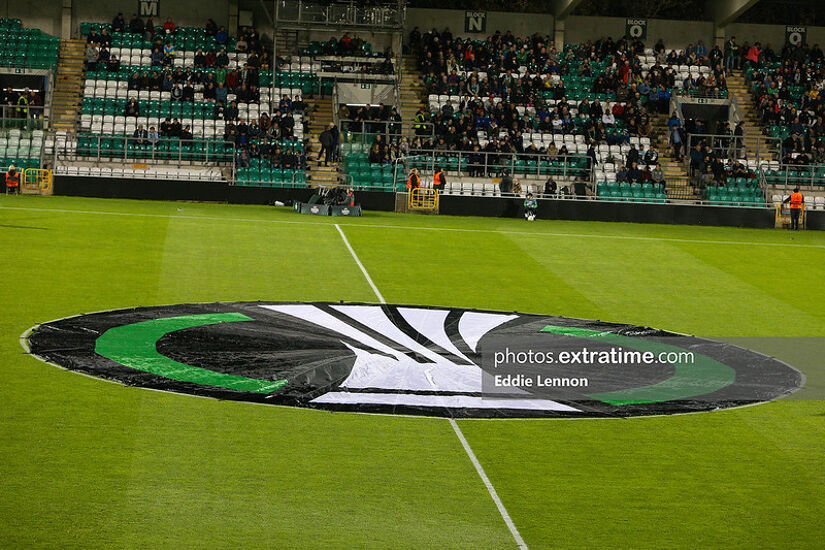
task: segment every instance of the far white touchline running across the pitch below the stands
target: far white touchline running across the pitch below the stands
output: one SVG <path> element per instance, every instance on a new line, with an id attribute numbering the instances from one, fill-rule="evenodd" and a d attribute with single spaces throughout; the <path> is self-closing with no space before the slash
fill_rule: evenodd
<path id="1" fill-rule="evenodd" d="M 0 210 L 23 210 L 29 212 L 58 212 L 61 214 L 94 214 L 102 216 L 124 216 L 128 218 L 167 218 L 178 220 L 203 220 L 203 221 L 223 221 L 223 222 L 246 222 L 246 223 L 285 223 L 297 225 L 329 225 L 325 222 L 310 222 L 303 220 L 267 220 L 265 218 L 222 218 L 217 216 L 186 216 L 174 214 L 145 214 L 131 212 L 106 212 L 101 210 L 73 210 L 68 208 L 28 208 L 21 206 L 0 206 Z M 562 238 L 582 238 L 582 239 L 618 239 L 625 241 L 649 241 L 664 243 L 688 243 L 688 244 L 723 244 L 734 246 L 778 246 L 792 248 L 814 248 L 825 249 L 825 244 L 802 244 L 802 243 L 778 243 L 778 242 L 757 242 L 757 241 L 723 241 L 713 239 L 679 239 L 676 237 L 642 237 L 636 235 L 597 235 L 593 233 L 559 233 L 541 231 L 506 231 L 501 229 L 472 229 L 465 227 L 427 227 L 419 225 L 390 225 L 376 223 L 345 223 L 346 227 L 369 227 L 377 229 L 399 229 L 404 231 L 450 231 L 455 233 L 490 233 L 498 235 L 517 235 L 520 237 L 562 237 Z"/>

